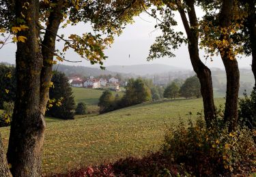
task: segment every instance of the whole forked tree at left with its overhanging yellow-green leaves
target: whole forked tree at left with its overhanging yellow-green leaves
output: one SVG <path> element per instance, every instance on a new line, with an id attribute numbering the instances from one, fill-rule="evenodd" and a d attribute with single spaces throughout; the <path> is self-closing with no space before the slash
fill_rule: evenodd
<path id="1" fill-rule="evenodd" d="M 16 101 L 8 146 L 8 163 L 13 176 L 40 176 L 42 146 L 46 124 L 44 114 L 51 85 L 52 66 L 56 58 L 72 48 L 91 64 L 106 59 L 103 50 L 132 22 L 140 12 L 137 1 L 74 1 L 74 0 L 3 0 L 0 1 L 0 33 L 9 33 L 16 42 Z M 91 24 L 96 34 L 58 35 L 61 22 Z M 41 25 L 42 24 L 42 25 Z M 44 28 L 45 27 L 45 28 Z M 9 39 L 1 40 L 6 44 Z M 55 50 L 55 42 L 63 40 L 63 50 Z M 3 147 L 0 143 L 0 150 Z M 1 160 L 1 176 L 8 164 Z M 5 173 L 6 172 L 6 173 Z"/>

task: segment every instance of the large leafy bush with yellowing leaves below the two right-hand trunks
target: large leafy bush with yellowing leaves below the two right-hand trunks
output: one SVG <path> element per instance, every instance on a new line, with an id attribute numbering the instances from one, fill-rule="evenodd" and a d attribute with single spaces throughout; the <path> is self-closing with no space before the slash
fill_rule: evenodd
<path id="1" fill-rule="evenodd" d="M 196 176 L 236 174 L 253 170 L 256 160 L 253 132 L 238 127 L 229 132 L 221 128 L 222 119 L 205 127 L 202 118 L 186 127 L 183 123 L 165 135 L 163 153 L 177 164 L 184 164 Z M 255 131 L 254 131 L 255 133 Z"/>

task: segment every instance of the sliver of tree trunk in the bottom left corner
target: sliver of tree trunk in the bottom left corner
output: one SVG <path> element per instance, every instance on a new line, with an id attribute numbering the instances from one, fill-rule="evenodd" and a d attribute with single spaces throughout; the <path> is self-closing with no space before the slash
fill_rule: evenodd
<path id="1" fill-rule="evenodd" d="M 12 174 L 9 170 L 8 162 L 5 155 L 5 149 L 3 147 L 1 134 L 0 134 L 0 176 L 1 177 L 11 177 Z"/>

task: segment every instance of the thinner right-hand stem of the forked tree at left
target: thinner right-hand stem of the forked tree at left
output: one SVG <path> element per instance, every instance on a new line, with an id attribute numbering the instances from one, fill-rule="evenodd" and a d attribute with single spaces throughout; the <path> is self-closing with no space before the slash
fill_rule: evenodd
<path id="1" fill-rule="evenodd" d="M 43 67 L 41 83 L 43 84 L 41 84 L 40 88 L 40 110 L 43 114 L 46 112 L 46 104 L 49 99 L 49 86 L 52 77 L 53 57 L 55 55 L 56 34 L 59 30 L 61 19 L 63 18 L 61 13 L 63 1 L 53 1 L 53 3 L 57 3 L 57 5 L 53 7 L 50 13 L 44 41 L 42 42 Z"/>

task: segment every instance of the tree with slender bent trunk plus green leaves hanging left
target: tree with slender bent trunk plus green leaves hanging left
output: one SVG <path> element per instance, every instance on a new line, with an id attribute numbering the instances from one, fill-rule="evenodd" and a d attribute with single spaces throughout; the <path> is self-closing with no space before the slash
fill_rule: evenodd
<path id="1" fill-rule="evenodd" d="M 165 7 L 162 7 L 162 3 L 165 4 Z M 177 49 L 182 43 L 188 44 L 190 61 L 201 84 L 205 122 L 207 127 L 210 127 L 211 121 L 215 118 L 212 76 L 210 69 L 203 64 L 199 57 L 199 20 L 195 11 L 196 1 L 164 0 L 162 3 L 159 3 L 160 6 L 158 7 L 159 14 L 162 14 L 162 19 L 158 20 L 160 22 L 156 25 L 156 28 L 162 30 L 162 35 L 156 37 L 156 42 L 151 46 L 147 59 L 165 56 L 175 57 L 171 50 Z M 179 12 L 182 18 L 186 37 L 184 37 L 182 32 L 176 32 L 173 29 L 173 26 L 177 25 L 177 21 L 174 19 L 174 11 Z M 154 9 L 152 10 L 152 16 L 158 18 Z"/>

